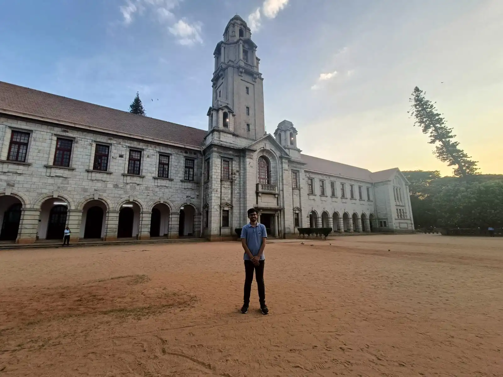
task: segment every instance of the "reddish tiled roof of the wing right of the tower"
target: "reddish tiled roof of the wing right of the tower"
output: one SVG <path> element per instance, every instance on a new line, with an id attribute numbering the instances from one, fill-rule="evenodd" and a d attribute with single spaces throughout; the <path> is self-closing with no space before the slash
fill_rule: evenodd
<path id="1" fill-rule="evenodd" d="M 379 182 L 389 179 L 398 168 L 376 171 L 372 173 L 368 169 L 342 164 L 340 162 L 325 160 L 323 158 L 301 154 L 302 161 L 306 163 L 304 169 L 324 172 L 330 175 L 343 176 L 364 180 L 367 182 Z"/>

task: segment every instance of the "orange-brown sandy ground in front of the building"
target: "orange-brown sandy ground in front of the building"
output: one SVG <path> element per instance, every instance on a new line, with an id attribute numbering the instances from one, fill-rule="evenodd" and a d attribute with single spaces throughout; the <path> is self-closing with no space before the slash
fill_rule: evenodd
<path id="1" fill-rule="evenodd" d="M 0 376 L 503 376 L 503 238 L 0 251 Z"/>

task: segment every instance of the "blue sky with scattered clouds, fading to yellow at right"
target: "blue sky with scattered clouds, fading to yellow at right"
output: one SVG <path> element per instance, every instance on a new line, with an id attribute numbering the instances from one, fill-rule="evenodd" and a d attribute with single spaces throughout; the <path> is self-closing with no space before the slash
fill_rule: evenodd
<path id="1" fill-rule="evenodd" d="M 482 173 L 503 173 L 501 0 L 0 0 L 0 80 L 207 129 L 213 51 L 239 14 L 265 121 L 371 171 L 452 168 L 407 114 L 414 86 Z"/>

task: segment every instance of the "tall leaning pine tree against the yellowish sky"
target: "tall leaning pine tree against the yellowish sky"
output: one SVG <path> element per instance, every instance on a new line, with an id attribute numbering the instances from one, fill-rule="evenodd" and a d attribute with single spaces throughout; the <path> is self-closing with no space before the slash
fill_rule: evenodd
<path id="1" fill-rule="evenodd" d="M 435 146 L 435 156 L 449 166 L 457 166 L 454 175 L 458 177 L 477 174 L 477 161 L 458 148 L 459 142 L 454 141 L 456 135 L 452 134 L 453 129 L 445 125 L 442 114 L 438 113 L 435 104 L 425 98 L 423 90 L 416 86 L 410 102 L 412 109 L 408 113 L 415 118 L 414 126 L 420 126 L 424 134 L 430 133 L 430 144 L 439 143 Z"/>

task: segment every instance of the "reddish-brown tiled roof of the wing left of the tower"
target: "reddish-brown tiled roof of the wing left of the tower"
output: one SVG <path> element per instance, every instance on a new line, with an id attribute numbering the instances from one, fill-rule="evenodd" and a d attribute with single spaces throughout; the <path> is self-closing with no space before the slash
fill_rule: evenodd
<path id="1" fill-rule="evenodd" d="M 0 113 L 201 147 L 206 131 L 0 81 Z"/>

